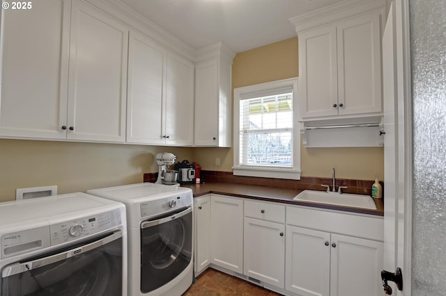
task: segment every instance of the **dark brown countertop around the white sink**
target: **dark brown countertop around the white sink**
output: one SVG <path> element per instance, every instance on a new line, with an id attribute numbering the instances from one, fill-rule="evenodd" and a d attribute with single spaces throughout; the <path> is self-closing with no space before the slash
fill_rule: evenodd
<path id="1" fill-rule="evenodd" d="M 233 183 L 202 183 L 202 184 L 184 184 L 183 187 L 191 188 L 194 197 L 201 197 L 209 193 L 219 195 L 229 195 L 232 197 L 243 197 L 246 199 L 257 199 L 266 202 L 280 202 L 283 204 L 294 204 L 298 206 L 309 206 L 312 208 L 325 208 L 336 211 L 346 211 L 351 213 L 362 213 L 368 215 L 384 215 L 384 200 L 374 199 L 376 210 L 367 208 L 353 208 L 350 206 L 337 206 L 332 204 L 316 204 L 312 202 L 299 202 L 293 200 L 302 190 L 272 188 L 266 186 L 255 186 Z"/>

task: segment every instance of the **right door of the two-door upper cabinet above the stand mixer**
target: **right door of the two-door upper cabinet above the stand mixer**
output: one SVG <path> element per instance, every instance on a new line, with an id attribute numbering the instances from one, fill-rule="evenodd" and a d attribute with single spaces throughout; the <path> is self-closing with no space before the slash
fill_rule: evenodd
<path id="1" fill-rule="evenodd" d="M 194 65 L 167 55 L 166 144 L 194 144 Z"/>

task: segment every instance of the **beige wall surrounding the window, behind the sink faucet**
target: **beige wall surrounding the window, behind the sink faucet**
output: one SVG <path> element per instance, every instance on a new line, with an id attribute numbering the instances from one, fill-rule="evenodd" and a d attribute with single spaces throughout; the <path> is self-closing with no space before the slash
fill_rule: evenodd
<path id="1" fill-rule="evenodd" d="M 240 88 L 298 74 L 298 39 L 291 38 L 237 54 L 233 59 L 232 87 Z M 199 148 L 193 150 L 194 161 L 203 170 L 231 172 L 233 149 Z M 215 165 L 220 158 L 220 166 Z M 344 179 L 380 180 L 384 177 L 384 151 L 376 148 L 309 148 L 301 145 L 302 176 L 330 177 L 331 169 Z"/>

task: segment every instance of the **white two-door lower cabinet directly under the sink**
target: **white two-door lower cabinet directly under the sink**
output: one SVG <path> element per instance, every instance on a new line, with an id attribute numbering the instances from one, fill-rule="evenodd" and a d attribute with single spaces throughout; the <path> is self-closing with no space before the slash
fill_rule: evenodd
<path id="1" fill-rule="evenodd" d="M 352 227 L 352 222 L 357 224 Z M 382 218 L 288 207 L 286 290 L 302 296 L 382 295 L 382 222 Z M 290 223 L 313 225 L 318 230 Z M 362 237 L 339 234 L 343 231 Z M 373 239 L 364 238 L 367 236 Z"/>

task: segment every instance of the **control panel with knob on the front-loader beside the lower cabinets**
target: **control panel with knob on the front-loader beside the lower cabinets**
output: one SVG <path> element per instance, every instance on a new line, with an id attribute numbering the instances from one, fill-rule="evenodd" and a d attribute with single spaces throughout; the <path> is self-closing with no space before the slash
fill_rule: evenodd
<path id="1" fill-rule="evenodd" d="M 141 219 L 160 215 L 176 208 L 191 206 L 192 199 L 193 195 L 191 191 L 143 202 L 141 203 Z"/>

